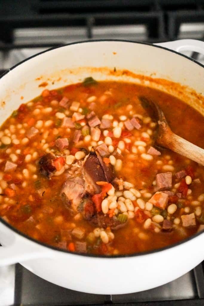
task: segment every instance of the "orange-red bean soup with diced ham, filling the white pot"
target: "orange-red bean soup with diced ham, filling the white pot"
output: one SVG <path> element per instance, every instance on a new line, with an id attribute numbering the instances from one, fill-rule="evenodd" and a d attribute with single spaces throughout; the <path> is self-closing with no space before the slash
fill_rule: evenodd
<path id="1" fill-rule="evenodd" d="M 0 129 L 0 216 L 71 252 L 162 248 L 204 229 L 204 168 L 155 143 L 162 108 L 173 132 L 204 148 L 204 118 L 132 83 L 86 78 L 21 104 Z"/>

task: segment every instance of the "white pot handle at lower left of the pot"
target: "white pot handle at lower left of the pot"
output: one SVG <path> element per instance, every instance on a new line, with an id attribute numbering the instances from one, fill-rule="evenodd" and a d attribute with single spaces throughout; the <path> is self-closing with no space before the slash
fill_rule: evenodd
<path id="1" fill-rule="evenodd" d="M 18 262 L 37 258 L 50 258 L 51 252 L 48 248 L 36 246 L 36 243 L 25 244 L 19 239 L 15 239 L 13 244 L 0 247 L 0 266 L 11 265 Z"/>

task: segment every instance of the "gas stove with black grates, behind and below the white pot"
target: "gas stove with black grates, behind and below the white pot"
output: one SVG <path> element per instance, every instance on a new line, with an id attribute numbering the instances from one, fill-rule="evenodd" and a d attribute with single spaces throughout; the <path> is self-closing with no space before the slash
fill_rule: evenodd
<path id="1" fill-rule="evenodd" d="M 203 40 L 204 0 L 2 0 L 0 26 L 1 74 L 33 54 L 75 41 L 127 39 L 156 43 L 186 38 Z M 203 55 L 185 54 L 204 64 Z M 135 275 L 135 282 L 138 281 Z M 204 305 L 204 262 L 166 285 L 112 296 L 59 287 L 20 264 L 0 268 L 0 306 L 105 304 Z"/>

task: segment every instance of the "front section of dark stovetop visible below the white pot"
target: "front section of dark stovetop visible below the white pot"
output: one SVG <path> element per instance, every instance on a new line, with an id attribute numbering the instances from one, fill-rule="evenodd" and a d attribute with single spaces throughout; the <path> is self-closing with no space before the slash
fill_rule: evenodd
<path id="1" fill-rule="evenodd" d="M 39 278 L 20 264 L 16 264 L 14 305 L 65 306 L 125 304 L 125 306 L 203 306 L 203 269 L 204 263 L 201 263 L 192 271 L 168 284 L 138 293 L 96 295 L 77 292 L 54 285 Z M 124 281 L 128 282 L 128 280 Z M 135 282 L 138 281 L 135 275 Z"/>

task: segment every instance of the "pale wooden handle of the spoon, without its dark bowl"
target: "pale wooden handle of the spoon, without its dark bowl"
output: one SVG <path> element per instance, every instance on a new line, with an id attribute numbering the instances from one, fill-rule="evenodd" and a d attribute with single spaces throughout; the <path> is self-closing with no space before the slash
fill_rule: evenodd
<path id="1" fill-rule="evenodd" d="M 204 166 L 204 150 L 173 132 L 166 139 L 165 147 Z"/>

